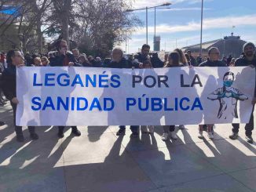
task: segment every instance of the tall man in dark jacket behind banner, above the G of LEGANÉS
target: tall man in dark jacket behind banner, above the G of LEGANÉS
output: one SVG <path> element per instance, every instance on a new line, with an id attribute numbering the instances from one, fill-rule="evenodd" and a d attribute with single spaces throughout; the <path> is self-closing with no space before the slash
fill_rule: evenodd
<path id="1" fill-rule="evenodd" d="M 49 65 L 51 67 L 61 67 L 61 66 L 77 66 L 81 67 L 79 63 L 76 62 L 75 56 L 71 53 L 68 53 L 68 45 L 67 42 L 63 39 L 57 42 L 57 55 L 50 61 Z M 81 136 L 81 132 L 77 129 L 76 126 L 71 126 L 72 133 L 75 136 Z M 59 138 L 64 137 L 64 126 L 59 126 L 58 132 Z"/>

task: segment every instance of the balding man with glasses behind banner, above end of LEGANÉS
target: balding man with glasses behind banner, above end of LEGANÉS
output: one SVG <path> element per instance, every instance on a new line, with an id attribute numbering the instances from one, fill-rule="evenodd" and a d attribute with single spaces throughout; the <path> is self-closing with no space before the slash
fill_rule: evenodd
<path id="1" fill-rule="evenodd" d="M 106 66 L 109 68 L 131 68 L 132 63 L 130 63 L 129 60 L 126 60 L 123 57 L 123 50 L 120 48 L 115 48 L 112 51 L 112 61 Z M 131 125 L 130 130 L 132 131 L 131 136 L 138 137 L 139 136 L 139 126 L 137 125 Z M 123 136 L 126 134 L 126 126 L 120 125 L 119 131 L 116 132 L 117 136 Z"/>

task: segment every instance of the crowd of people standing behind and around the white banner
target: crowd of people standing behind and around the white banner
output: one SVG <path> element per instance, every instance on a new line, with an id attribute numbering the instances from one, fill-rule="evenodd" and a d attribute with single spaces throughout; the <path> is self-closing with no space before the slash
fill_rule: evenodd
<path id="1" fill-rule="evenodd" d="M 220 52 L 218 48 L 212 47 L 208 50 L 208 57 L 204 60 L 201 56 L 196 59 L 192 56 L 191 51 L 184 53 L 181 49 L 174 49 L 170 54 L 166 54 L 164 60 L 160 60 L 158 53 L 150 53 L 150 46 L 144 44 L 141 48 L 141 53 L 126 58 L 123 55 L 123 50 L 115 48 L 112 50 L 112 58 L 106 58 L 101 60 L 100 57 L 86 56 L 85 53 L 79 53 L 79 49 L 73 49 L 68 51 L 67 42 L 59 40 L 56 43 L 56 51 L 50 52 L 47 55 L 30 55 L 25 54 L 23 56 L 17 49 L 9 50 L 6 54 L 1 53 L 0 58 L 0 106 L 4 106 L 7 100 L 10 100 L 13 107 L 13 121 L 15 125 L 16 139 L 19 142 L 24 141 L 22 127 L 16 126 L 16 106 L 19 101 L 16 99 L 16 67 L 30 66 L 30 67 L 61 67 L 61 66 L 75 66 L 75 67 L 108 67 L 108 68 L 161 68 L 161 67 L 237 67 L 237 66 L 256 66 L 255 46 L 251 42 L 247 42 L 243 45 L 243 53 L 240 58 L 228 59 L 223 58 L 220 60 Z M 256 90 L 252 105 L 254 106 L 256 100 Z M 254 129 L 254 116 L 251 113 L 251 119 L 245 126 L 246 139 L 248 143 L 253 143 L 252 130 Z M 0 126 L 4 125 L 3 121 L 0 122 Z M 207 136 L 210 139 L 214 139 L 214 125 L 199 125 L 199 138 L 203 139 L 203 130 L 207 131 Z M 230 139 L 237 139 L 240 129 L 239 124 L 232 124 L 232 135 Z M 58 127 L 58 136 L 64 137 L 64 126 Z M 179 125 L 180 129 L 184 129 L 184 125 Z M 80 136 L 81 132 L 76 126 L 71 126 L 72 133 L 75 136 Z M 140 131 L 140 125 L 130 126 L 132 131 L 132 137 L 138 137 Z M 38 139 L 38 135 L 35 132 L 35 127 L 29 126 L 31 139 Z M 175 133 L 175 125 L 163 126 L 163 141 L 167 139 L 177 139 Z M 126 126 L 120 125 L 117 136 L 123 136 L 126 132 Z M 154 126 L 141 126 L 142 133 L 153 133 Z"/>

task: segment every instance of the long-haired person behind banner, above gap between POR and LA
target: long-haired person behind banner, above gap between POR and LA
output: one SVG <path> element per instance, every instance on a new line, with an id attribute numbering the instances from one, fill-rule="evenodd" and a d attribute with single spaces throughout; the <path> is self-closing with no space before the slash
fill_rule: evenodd
<path id="1" fill-rule="evenodd" d="M 168 63 L 165 67 L 185 67 L 183 63 L 180 63 L 180 55 L 177 52 L 172 52 L 168 56 Z M 162 140 L 166 141 L 168 138 L 177 139 L 175 132 L 175 125 L 163 125 Z"/>

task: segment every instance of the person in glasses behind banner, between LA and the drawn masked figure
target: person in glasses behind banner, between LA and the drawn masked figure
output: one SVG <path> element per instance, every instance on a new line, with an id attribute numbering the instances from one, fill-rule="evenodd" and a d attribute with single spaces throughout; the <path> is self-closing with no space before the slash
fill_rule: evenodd
<path id="1" fill-rule="evenodd" d="M 220 58 L 220 51 L 217 47 L 212 47 L 208 50 L 208 60 L 199 64 L 199 67 L 227 67 Z M 207 125 L 209 139 L 214 139 L 214 125 Z M 199 125 L 199 139 L 203 139 L 203 125 Z"/>

